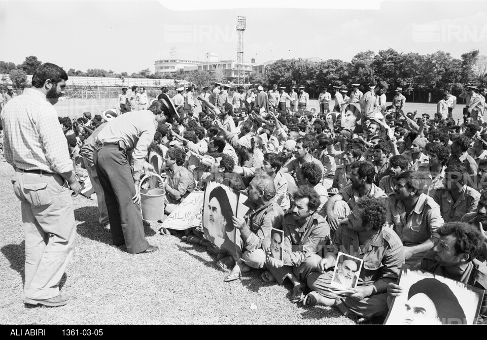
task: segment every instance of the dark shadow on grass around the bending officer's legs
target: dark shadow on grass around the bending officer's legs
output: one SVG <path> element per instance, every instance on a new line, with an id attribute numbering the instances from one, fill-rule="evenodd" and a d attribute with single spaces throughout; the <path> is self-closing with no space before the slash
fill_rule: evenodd
<path id="1" fill-rule="evenodd" d="M 103 229 L 98 222 L 98 208 L 83 207 L 75 209 L 75 220 L 81 223 L 77 226 L 77 232 L 87 239 L 113 245 L 112 233 Z M 144 226 L 146 236 L 154 236 L 154 231 L 150 226 Z"/>

